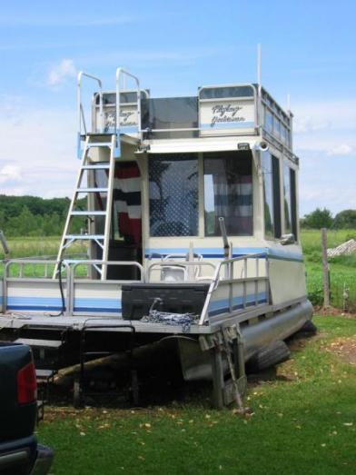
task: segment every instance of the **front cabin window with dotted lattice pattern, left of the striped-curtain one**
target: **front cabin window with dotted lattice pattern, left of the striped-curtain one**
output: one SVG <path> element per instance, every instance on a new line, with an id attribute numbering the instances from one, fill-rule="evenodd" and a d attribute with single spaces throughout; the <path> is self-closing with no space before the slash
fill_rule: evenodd
<path id="1" fill-rule="evenodd" d="M 198 234 L 198 158 L 170 153 L 149 158 L 151 236 Z"/>

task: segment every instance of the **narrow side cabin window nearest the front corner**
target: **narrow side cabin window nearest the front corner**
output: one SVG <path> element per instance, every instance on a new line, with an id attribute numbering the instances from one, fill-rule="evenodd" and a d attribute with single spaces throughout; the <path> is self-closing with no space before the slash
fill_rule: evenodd
<path id="1" fill-rule="evenodd" d="M 266 238 L 281 236 L 280 163 L 269 152 L 262 153 L 264 233 Z"/>

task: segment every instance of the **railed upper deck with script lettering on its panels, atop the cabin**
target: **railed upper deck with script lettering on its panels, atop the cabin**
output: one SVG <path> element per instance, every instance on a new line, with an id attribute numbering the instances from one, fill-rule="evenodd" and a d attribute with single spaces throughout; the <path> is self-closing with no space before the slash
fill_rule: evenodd
<path id="1" fill-rule="evenodd" d="M 260 136 L 292 153 L 292 113 L 257 84 L 203 86 L 197 95 L 185 97 L 153 98 L 144 90 L 139 104 L 134 90 L 120 92 L 119 101 L 116 95 L 113 91 L 94 94 L 94 132 L 113 134 L 119 108 L 120 133 L 139 136 L 142 143 Z"/>

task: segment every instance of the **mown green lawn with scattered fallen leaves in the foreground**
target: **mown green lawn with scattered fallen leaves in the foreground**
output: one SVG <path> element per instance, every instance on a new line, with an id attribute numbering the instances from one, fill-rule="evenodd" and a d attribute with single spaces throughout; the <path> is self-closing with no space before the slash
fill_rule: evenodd
<path id="1" fill-rule="evenodd" d="M 354 474 L 356 365 L 328 349 L 356 335 L 356 320 L 314 322 L 318 336 L 293 341 L 276 376 L 250 384 L 247 420 L 193 396 L 133 411 L 48 408 L 38 436 L 55 450 L 51 473 Z"/>

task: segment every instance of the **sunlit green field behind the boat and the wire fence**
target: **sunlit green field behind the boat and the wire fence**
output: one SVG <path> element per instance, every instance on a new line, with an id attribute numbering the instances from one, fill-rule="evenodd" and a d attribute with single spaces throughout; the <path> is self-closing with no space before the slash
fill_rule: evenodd
<path id="1" fill-rule="evenodd" d="M 356 238 L 356 230 L 338 230 L 328 233 L 329 247 L 335 247 L 341 242 Z M 59 237 L 26 237 L 13 238 L 9 241 L 14 257 L 44 256 L 54 258 L 59 245 Z M 321 270 L 321 233 L 319 231 L 303 231 L 302 247 L 305 257 L 307 286 L 310 299 L 314 305 L 322 304 L 322 270 Z M 73 252 L 85 252 L 84 244 L 75 244 Z M 0 252 L 0 259 L 3 256 Z M 342 294 L 344 285 L 350 290 L 350 310 L 356 311 L 356 255 L 333 259 L 331 268 L 331 304 L 342 308 Z M 0 269 L 0 275 L 1 275 Z M 28 266 L 27 275 L 34 272 L 34 267 Z M 41 274 L 43 270 L 35 268 Z"/>

